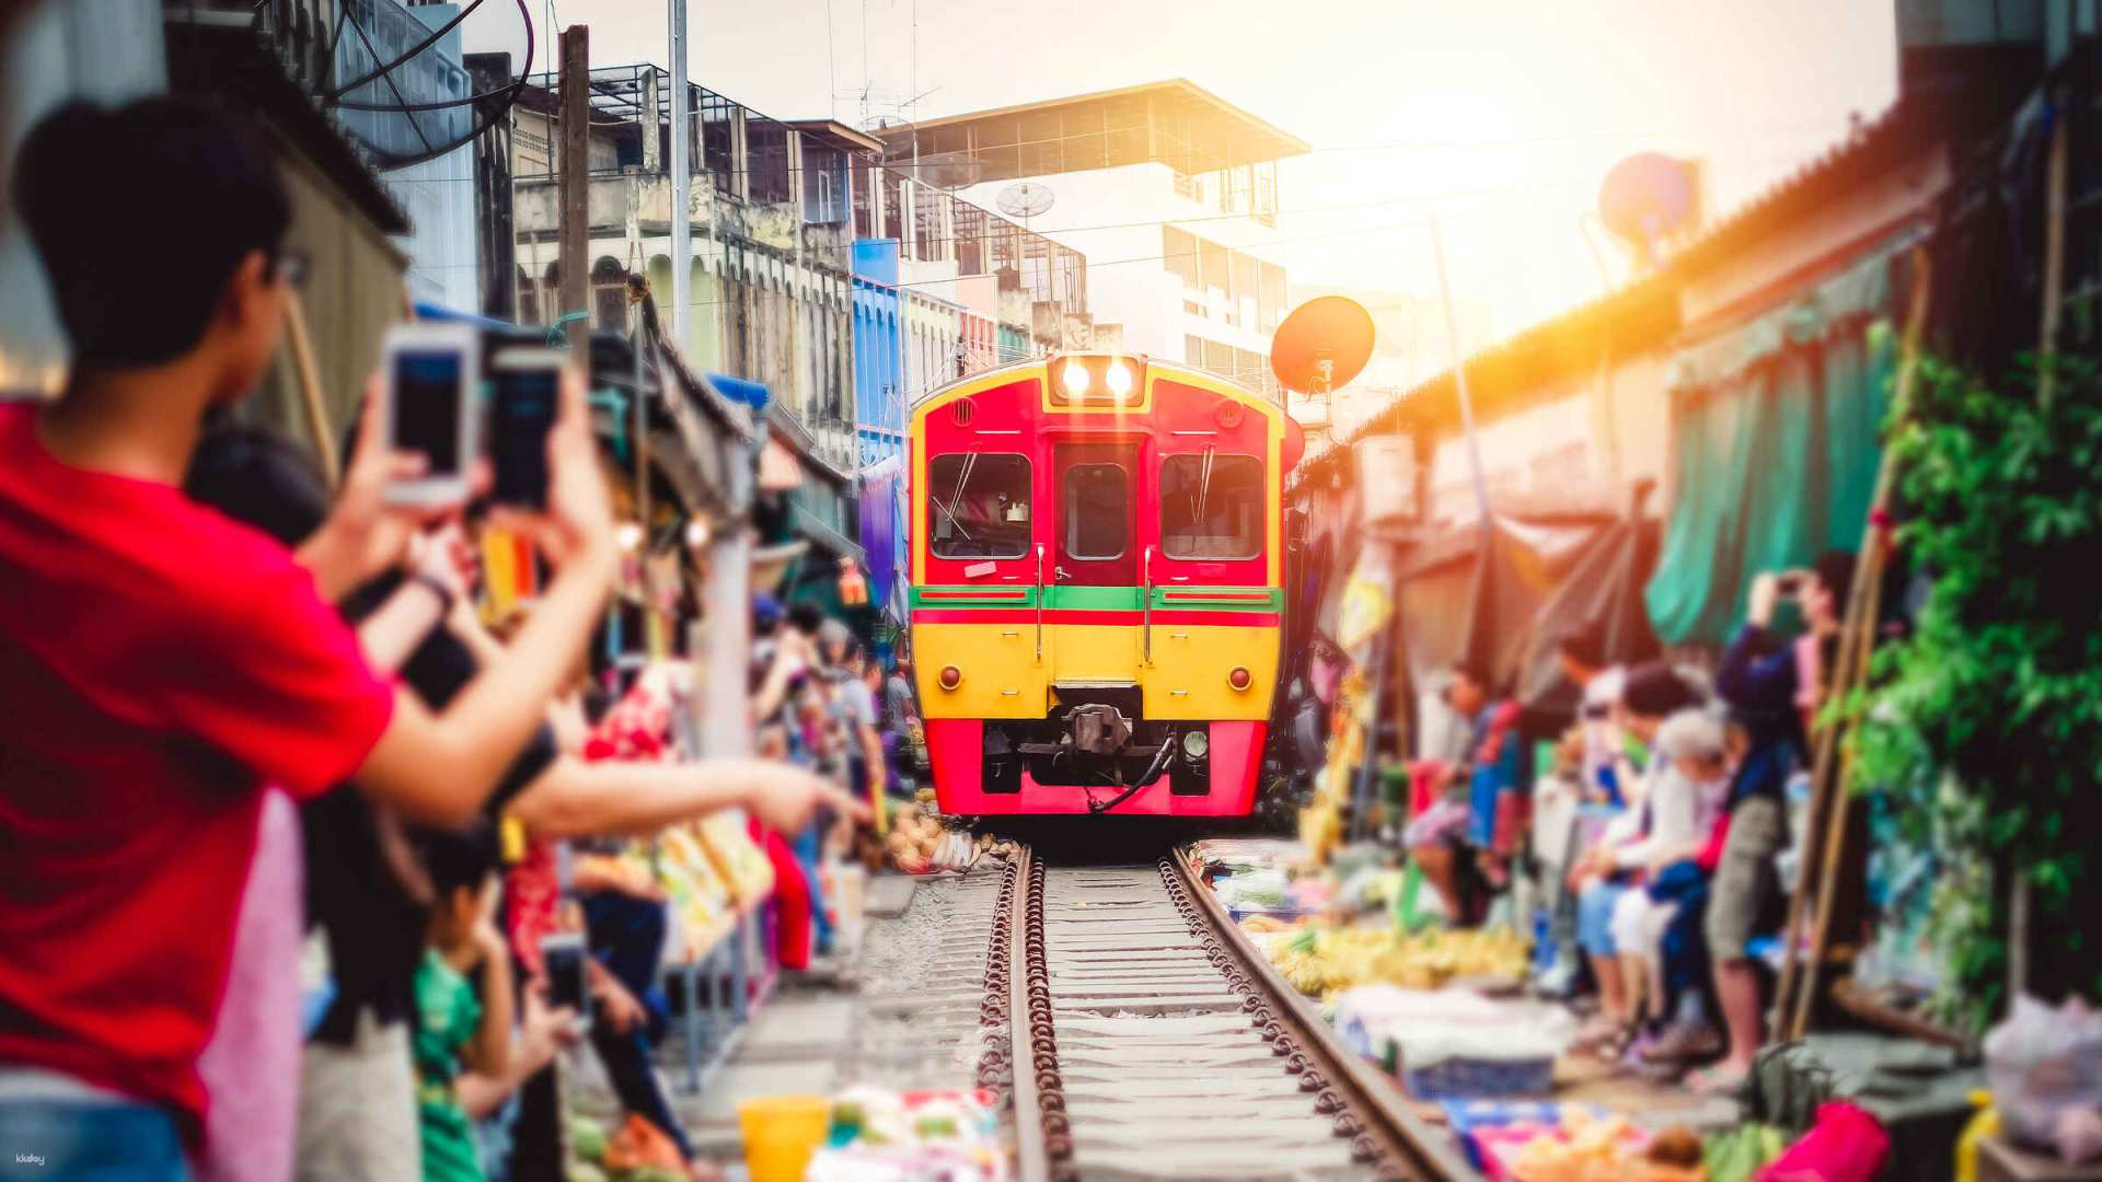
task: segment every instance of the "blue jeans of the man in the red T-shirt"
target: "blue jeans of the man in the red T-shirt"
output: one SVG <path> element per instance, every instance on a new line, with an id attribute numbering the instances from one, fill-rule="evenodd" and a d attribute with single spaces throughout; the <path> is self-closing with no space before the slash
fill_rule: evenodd
<path id="1" fill-rule="evenodd" d="M 174 1117 L 153 1104 L 0 1100 L 0 1182 L 187 1182 Z"/>

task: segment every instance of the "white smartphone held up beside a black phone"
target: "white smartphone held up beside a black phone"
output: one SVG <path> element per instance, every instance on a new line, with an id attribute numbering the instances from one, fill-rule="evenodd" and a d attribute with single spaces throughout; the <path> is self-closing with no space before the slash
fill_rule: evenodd
<path id="1" fill-rule="evenodd" d="M 389 484 L 387 501 L 467 501 L 481 435 L 481 334 L 471 324 L 397 324 L 387 330 L 383 372 L 387 442 L 427 461 L 423 475 Z"/>

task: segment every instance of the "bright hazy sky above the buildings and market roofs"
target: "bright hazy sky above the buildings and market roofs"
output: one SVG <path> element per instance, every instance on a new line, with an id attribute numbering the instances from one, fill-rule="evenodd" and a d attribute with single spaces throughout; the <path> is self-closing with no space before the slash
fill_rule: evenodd
<path id="1" fill-rule="evenodd" d="M 544 27 L 549 0 L 526 4 Z M 553 4 L 557 25 L 591 25 L 595 65 L 664 63 L 664 11 Z M 1314 145 L 1280 166 L 1268 252 L 1295 282 L 1436 294 L 1423 225 L 1436 210 L 1455 297 L 1488 305 L 1497 334 L 1600 292 L 1579 219 L 1623 156 L 1707 158 L 1719 215 L 1896 97 L 1894 0 L 689 0 L 687 13 L 694 80 L 778 118 L 935 118 L 1190 78 Z M 469 36 L 517 50 L 515 4 L 488 2 Z M 1610 246 L 1606 263 L 1621 273 Z"/>

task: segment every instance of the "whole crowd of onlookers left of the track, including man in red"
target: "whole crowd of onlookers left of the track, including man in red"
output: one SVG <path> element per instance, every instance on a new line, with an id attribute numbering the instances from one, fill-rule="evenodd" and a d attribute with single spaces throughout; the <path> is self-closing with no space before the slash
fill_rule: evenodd
<path id="1" fill-rule="evenodd" d="M 742 808 L 822 921 L 910 692 L 759 602 L 759 757 L 673 757 L 593 646 L 622 555 L 574 372 L 544 511 L 391 505 L 423 458 L 376 383 L 336 488 L 238 425 L 307 261 L 229 116 L 65 107 L 15 198 L 71 368 L 0 404 L 0 1178 L 553 1178 L 578 1041 L 628 1150 L 708 1176 L 650 1062 L 664 898 L 582 854 Z M 551 570 L 500 620 L 486 530 Z"/>

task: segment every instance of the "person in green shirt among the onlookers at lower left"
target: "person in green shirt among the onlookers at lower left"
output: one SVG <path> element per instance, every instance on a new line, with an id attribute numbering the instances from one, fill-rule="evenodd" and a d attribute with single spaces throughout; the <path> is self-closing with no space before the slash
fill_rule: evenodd
<path id="1" fill-rule="evenodd" d="M 465 1073 L 500 1077 L 511 1058 L 511 955 L 496 930 L 496 837 L 488 824 L 420 841 L 437 904 L 416 965 L 416 1115 L 427 1182 L 483 1182 Z M 471 978 L 479 978 L 479 995 Z"/>

